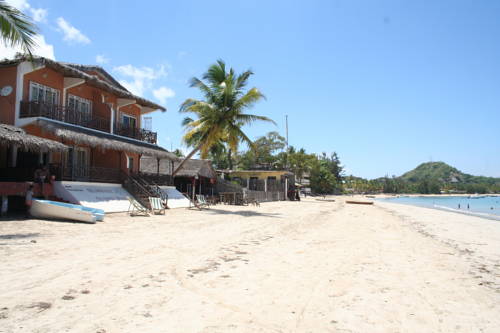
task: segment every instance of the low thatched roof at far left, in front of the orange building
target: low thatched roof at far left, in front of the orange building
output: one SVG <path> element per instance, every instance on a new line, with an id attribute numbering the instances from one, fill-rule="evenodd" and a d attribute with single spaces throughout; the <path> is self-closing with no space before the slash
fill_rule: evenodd
<path id="1" fill-rule="evenodd" d="M 6 124 L 0 124 L 0 145 L 17 145 L 25 151 L 63 151 L 68 149 L 62 143 L 26 134 L 22 128 Z"/>

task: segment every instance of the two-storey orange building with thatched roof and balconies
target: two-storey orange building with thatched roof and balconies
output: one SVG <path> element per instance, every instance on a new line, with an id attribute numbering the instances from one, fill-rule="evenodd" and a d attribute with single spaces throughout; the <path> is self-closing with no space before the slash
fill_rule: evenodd
<path id="1" fill-rule="evenodd" d="M 158 110 L 166 111 L 98 66 L 41 57 L 2 61 L 0 124 L 68 149 L 33 152 L 0 145 L 0 182 L 32 180 L 43 164 L 56 180 L 121 184 L 124 175 L 139 172 L 141 156 L 175 159 L 157 145 L 157 133 L 142 128 L 141 118 Z"/>

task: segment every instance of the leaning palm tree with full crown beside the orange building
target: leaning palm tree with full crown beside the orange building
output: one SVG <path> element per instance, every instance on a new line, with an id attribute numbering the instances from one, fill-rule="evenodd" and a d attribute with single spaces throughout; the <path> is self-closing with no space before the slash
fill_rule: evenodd
<path id="1" fill-rule="evenodd" d="M 274 123 L 268 117 L 244 113 L 264 99 L 264 95 L 255 87 L 245 91 L 251 75 L 253 72 L 250 70 L 239 75 L 232 68 L 226 71 L 224 61 L 217 60 L 201 80 L 196 77 L 191 79 L 190 86 L 200 89 L 204 100 L 188 98 L 180 106 L 179 112 L 197 116 L 196 119 L 186 117 L 182 122 L 186 128 L 183 140 L 194 149 L 172 176 L 198 151 L 201 158 L 206 158 L 210 149 L 221 143 L 226 143 L 232 151 L 236 151 L 242 141 L 252 146 L 252 141 L 242 130 L 244 125 L 258 120 Z"/>

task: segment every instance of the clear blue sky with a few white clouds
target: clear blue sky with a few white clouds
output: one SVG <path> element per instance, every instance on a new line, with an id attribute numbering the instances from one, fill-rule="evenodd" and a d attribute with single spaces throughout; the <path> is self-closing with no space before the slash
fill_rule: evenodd
<path id="1" fill-rule="evenodd" d="M 37 53 L 102 66 L 167 108 L 159 144 L 181 148 L 188 80 L 223 59 L 254 71 L 251 113 L 346 173 L 401 175 L 444 161 L 500 177 L 500 1 L 8 0 L 40 29 Z M 0 46 L 0 57 L 10 50 Z"/>

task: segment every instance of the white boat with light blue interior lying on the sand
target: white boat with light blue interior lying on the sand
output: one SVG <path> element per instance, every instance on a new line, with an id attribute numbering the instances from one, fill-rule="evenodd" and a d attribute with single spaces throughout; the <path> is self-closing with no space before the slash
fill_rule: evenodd
<path id="1" fill-rule="evenodd" d="M 30 214 L 33 217 L 58 220 L 73 220 L 95 223 L 96 213 L 88 207 L 49 200 L 33 200 Z M 86 208 L 86 209 L 84 209 Z"/>

